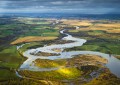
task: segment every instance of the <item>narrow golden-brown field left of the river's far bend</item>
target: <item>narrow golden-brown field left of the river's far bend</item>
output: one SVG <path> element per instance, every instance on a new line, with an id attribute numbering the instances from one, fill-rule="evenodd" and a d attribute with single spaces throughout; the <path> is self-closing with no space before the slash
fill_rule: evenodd
<path id="1" fill-rule="evenodd" d="M 11 42 L 11 44 L 14 45 L 14 44 L 19 44 L 23 42 L 44 41 L 44 40 L 54 40 L 54 39 L 57 39 L 57 37 L 27 36 L 27 37 L 19 38 Z"/>

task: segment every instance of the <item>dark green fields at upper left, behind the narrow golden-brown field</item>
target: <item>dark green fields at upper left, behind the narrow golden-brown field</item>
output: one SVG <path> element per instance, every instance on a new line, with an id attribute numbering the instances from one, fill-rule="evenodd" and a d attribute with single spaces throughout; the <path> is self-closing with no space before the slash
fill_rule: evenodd
<path id="1" fill-rule="evenodd" d="M 6 37 L 9 35 L 18 35 L 16 37 L 25 36 L 58 36 L 59 29 L 54 29 L 48 21 L 34 22 L 34 25 L 30 24 L 5 24 L 0 25 L 0 37 Z"/>

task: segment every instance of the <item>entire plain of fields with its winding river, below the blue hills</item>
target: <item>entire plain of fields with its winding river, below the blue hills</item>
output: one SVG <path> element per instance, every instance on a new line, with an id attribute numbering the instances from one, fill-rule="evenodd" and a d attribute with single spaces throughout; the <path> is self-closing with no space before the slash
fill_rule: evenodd
<path id="1" fill-rule="evenodd" d="M 119 85 L 119 43 L 119 20 L 1 17 L 0 85 Z"/>

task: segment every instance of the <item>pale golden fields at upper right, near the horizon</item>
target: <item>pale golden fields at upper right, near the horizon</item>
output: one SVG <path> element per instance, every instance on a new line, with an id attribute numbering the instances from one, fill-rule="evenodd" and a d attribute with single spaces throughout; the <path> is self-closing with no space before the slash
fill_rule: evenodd
<path id="1" fill-rule="evenodd" d="M 62 20 L 63 24 L 71 26 L 88 26 L 80 27 L 77 31 L 103 30 L 108 33 L 120 33 L 120 22 L 102 21 L 102 20 Z M 93 23 L 99 22 L 99 23 Z M 105 23 L 103 23 L 105 22 Z M 76 32 L 76 31 L 75 31 Z"/>

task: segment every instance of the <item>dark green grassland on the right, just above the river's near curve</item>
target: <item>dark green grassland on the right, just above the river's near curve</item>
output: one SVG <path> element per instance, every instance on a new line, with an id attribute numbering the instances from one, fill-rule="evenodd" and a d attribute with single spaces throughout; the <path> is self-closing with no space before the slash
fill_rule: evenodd
<path id="1" fill-rule="evenodd" d="M 111 43 L 102 43 L 102 42 L 93 42 L 89 44 L 85 44 L 83 46 L 78 46 L 74 48 L 65 49 L 66 51 L 73 50 L 86 50 L 86 51 L 98 51 L 103 53 L 117 54 L 120 55 L 120 45 L 119 44 L 111 44 Z"/>

